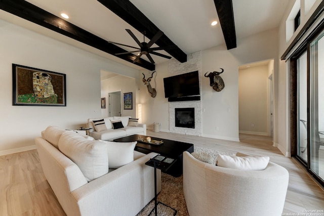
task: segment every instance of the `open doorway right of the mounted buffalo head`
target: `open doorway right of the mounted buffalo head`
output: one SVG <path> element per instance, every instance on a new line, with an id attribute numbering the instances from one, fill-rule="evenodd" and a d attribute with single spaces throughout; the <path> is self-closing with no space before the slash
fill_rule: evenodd
<path id="1" fill-rule="evenodd" d="M 273 137 L 274 60 L 238 67 L 239 133 Z"/>

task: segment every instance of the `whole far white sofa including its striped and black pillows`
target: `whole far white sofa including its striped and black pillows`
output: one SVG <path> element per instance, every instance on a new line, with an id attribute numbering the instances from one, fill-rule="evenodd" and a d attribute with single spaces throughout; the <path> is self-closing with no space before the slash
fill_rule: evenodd
<path id="1" fill-rule="evenodd" d="M 146 124 L 138 123 L 138 119 L 131 116 L 89 118 L 87 127 L 92 128 L 87 134 L 96 140 L 113 140 L 134 134 L 146 135 Z"/>

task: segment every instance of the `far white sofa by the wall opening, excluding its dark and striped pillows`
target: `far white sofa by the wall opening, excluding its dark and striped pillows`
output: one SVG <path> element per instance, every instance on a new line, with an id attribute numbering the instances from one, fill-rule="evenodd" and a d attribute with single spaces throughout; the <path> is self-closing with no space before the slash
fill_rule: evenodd
<path id="1" fill-rule="evenodd" d="M 105 117 L 105 118 L 89 118 L 87 127 L 90 127 L 92 129 L 87 131 L 87 134 L 96 140 L 113 140 L 121 137 L 126 137 L 134 134 L 140 134 L 140 135 L 146 135 L 146 124 L 129 124 L 129 119 L 131 116 L 114 116 L 114 117 Z M 97 131 L 96 127 L 94 125 L 94 121 L 98 121 L 103 119 L 105 122 L 106 129 L 104 131 Z M 123 123 L 122 128 L 115 129 L 113 127 L 114 120 L 121 120 L 121 123 Z M 131 118 L 132 119 L 132 118 Z M 134 118 L 133 118 L 134 119 Z M 132 122 L 134 123 L 134 122 Z M 136 125 L 136 126 L 130 126 L 130 125 Z"/>

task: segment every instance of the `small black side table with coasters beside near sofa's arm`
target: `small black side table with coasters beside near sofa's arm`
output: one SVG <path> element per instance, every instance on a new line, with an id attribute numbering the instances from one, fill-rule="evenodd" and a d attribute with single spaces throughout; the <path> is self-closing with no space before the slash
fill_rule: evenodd
<path id="1" fill-rule="evenodd" d="M 176 161 L 177 161 L 177 159 L 173 159 L 173 158 L 170 158 L 170 157 L 165 157 L 165 156 L 162 156 L 162 155 L 156 155 L 155 157 L 151 158 L 149 161 L 147 161 L 145 163 L 148 166 L 154 167 L 154 195 L 155 195 L 154 196 L 154 202 L 155 202 L 154 209 L 155 209 L 155 216 L 157 216 L 156 169 L 160 169 L 161 171 L 166 172 Z M 151 214 L 151 212 L 149 214 Z"/>

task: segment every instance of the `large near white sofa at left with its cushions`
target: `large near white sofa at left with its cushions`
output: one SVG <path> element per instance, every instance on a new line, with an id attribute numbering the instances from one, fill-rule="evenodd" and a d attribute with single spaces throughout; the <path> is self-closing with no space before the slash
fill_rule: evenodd
<path id="1" fill-rule="evenodd" d="M 45 177 L 68 216 L 136 215 L 154 198 L 154 168 L 145 162 L 156 153 L 134 151 L 136 142 L 97 141 L 49 126 L 35 143 Z"/>

